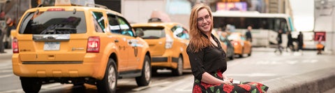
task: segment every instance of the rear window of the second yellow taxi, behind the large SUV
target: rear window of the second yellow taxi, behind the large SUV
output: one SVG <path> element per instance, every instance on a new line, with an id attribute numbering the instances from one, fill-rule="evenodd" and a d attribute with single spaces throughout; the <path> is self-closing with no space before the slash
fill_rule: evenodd
<path id="1" fill-rule="evenodd" d="M 164 27 L 133 27 L 135 31 L 142 30 L 144 36 L 141 38 L 163 38 L 165 37 Z"/>

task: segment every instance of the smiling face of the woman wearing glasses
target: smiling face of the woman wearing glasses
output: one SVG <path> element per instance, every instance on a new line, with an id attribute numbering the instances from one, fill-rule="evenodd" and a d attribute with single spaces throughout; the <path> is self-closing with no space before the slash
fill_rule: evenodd
<path id="1" fill-rule="evenodd" d="M 202 8 L 198 12 L 197 17 L 197 26 L 202 33 L 207 34 L 211 33 L 211 15 L 209 15 L 208 10 L 206 8 Z"/>

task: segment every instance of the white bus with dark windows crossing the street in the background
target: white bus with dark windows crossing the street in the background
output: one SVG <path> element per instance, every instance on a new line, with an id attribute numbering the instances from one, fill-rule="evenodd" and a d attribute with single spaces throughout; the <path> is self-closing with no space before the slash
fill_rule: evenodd
<path id="1" fill-rule="evenodd" d="M 294 32 L 295 28 L 289 15 L 282 13 L 258 13 L 257 11 L 216 11 L 213 13 L 214 29 L 234 27 L 230 31 L 244 34 L 248 26 L 253 27 L 253 46 L 270 47 L 277 43 L 278 30 L 282 29 L 282 46 L 287 46 L 286 31 Z M 292 35 L 293 36 L 293 35 Z"/>

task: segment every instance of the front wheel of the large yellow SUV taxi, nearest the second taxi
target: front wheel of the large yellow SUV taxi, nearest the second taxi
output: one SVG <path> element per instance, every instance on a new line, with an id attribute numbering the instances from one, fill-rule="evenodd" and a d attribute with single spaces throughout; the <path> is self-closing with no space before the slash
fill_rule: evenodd
<path id="1" fill-rule="evenodd" d="M 135 78 L 138 86 L 147 86 L 151 81 L 151 61 L 149 56 L 144 57 L 142 75 Z"/>

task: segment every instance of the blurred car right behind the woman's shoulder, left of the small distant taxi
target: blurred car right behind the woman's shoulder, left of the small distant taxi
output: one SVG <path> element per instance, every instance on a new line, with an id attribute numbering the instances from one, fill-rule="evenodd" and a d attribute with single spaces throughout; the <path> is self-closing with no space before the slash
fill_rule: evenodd
<path id="1" fill-rule="evenodd" d="M 230 41 L 226 39 L 225 36 L 223 36 L 224 32 L 216 31 L 213 29 L 211 33 L 214 34 L 214 36 L 216 36 L 216 38 L 218 38 L 218 40 L 220 41 L 221 47 L 223 48 L 223 50 L 225 50 L 227 58 L 234 59 L 234 47 L 232 46 Z"/>

